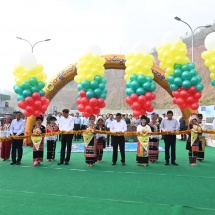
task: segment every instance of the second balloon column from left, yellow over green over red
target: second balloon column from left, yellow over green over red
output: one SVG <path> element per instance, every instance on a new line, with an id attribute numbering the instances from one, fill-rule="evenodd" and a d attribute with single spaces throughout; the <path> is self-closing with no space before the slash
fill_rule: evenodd
<path id="1" fill-rule="evenodd" d="M 107 79 L 104 78 L 104 63 L 104 58 L 92 53 L 85 54 L 77 63 L 74 80 L 78 83 L 78 110 L 86 117 L 99 114 L 100 108 L 105 107 Z"/>

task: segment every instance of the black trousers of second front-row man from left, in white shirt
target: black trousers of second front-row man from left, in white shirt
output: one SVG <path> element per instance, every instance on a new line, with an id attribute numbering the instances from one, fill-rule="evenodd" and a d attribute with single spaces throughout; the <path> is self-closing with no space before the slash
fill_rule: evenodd
<path id="1" fill-rule="evenodd" d="M 71 149 L 72 149 L 72 138 L 73 134 L 62 134 L 61 136 L 61 151 L 60 151 L 60 162 L 69 162 Z M 66 158 L 65 151 L 67 148 Z"/>

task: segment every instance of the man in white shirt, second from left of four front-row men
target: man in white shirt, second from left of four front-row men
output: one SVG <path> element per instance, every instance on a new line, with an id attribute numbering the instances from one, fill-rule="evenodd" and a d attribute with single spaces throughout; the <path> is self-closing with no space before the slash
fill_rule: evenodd
<path id="1" fill-rule="evenodd" d="M 60 120 L 59 130 L 60 131 L 72 131 L 74 129 L 74 117 L 69 116 L 69 110 L 64 109 L 63 117 Z M 61 151 L 60 151 L 60 161 L 58 165 L 62 165 L 65 162 L 65 165 L 69 164 L 71 149 L 72 149 L 72 138 L 73 134 L 62 134 L 61 135 Z M 67 155 L 65 158 L 65 150 L 67 148 Z"/>

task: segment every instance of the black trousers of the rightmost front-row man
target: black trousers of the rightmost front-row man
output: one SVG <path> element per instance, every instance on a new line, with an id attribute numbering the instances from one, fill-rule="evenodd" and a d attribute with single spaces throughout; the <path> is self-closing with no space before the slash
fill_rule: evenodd
<path id="1" fill-rule="evenodd" d="M 171 162 L 175 162 L 175 145 L 176 145 L 176 135 L 164 135 L 164 143 L 165 143 L 165 160 L 169 162 L 170 155 L 169 150 L 171 147 Z"/>

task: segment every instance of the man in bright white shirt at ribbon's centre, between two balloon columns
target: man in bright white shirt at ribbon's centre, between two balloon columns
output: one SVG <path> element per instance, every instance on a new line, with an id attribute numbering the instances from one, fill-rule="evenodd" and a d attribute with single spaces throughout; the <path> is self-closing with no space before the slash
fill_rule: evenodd
<path id="1" fill-rule="evenodd" d="M 118 145 L 121 153 L 121 163 L 125 165 L 125 137 L 122 135 L 122 132 L 127 131 L 127 125 L 125 120 L 122 120 L 121 113 L 116 114 L 116 120 L 111 122 L 110 131 L 116 132 L 117 135 L 112 137 L 113 140 L 113 156 L 112 156 L 112 165 L 116 165 L 117 156 L 118 156 Z"/>

